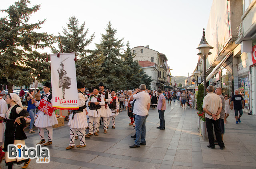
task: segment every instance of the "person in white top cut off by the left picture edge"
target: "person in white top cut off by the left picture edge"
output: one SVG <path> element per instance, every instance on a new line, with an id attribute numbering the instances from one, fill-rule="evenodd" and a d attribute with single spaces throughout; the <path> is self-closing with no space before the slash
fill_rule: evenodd
<path id="1" fill-rule="evenodd" d="M 0 90 L 2 90 L 2 86 L 0 85 Z M 0 163 L 2 163 L 2 160 L 4 158 L 4 151 L 2 151 L 2 145 L 4 144 L 4 131 L 5 131 L 5 125 L 3 123 L 3 120 L 5 119 L 5 114 L 8 110 L 8 106 L 6 101 L 2 98 L 2 94 L 0 94 Z"/>

